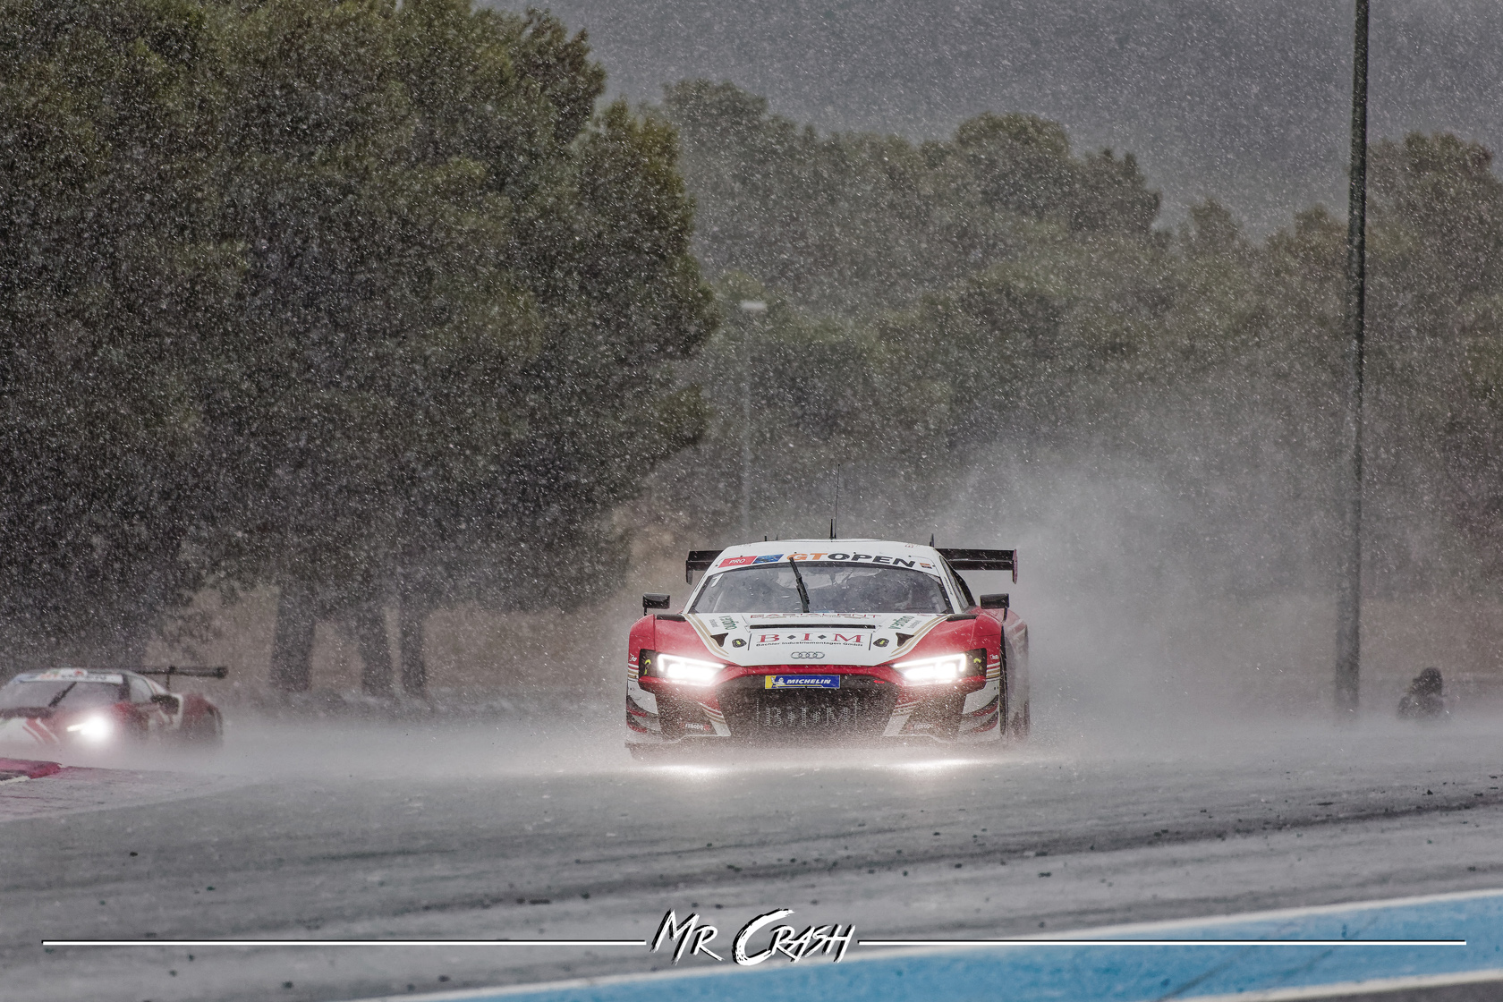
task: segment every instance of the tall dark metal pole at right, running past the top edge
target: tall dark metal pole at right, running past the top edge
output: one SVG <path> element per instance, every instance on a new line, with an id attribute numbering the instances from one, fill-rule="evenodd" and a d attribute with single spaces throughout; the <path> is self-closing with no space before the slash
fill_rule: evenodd
<path id="1" fill-rule="evenodd" d="M 1347 553 L 1336 601 L 1336 711 L 1356 714 L 1362 665 L 1362 380 L 1368 299 L 1368 2 L 1356 0 L 1351 60 L 1351 176 L 1347 189 Z"/>

